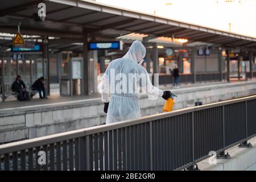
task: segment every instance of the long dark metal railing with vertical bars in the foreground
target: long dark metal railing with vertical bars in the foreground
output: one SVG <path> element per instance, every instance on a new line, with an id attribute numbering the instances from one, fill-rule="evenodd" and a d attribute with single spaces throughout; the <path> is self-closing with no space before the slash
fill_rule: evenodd
<path id="1" fill-rule="evenodd" d="M 254 137 L 255 106 L 256 96 L 243 97 L 2 144 L 0 169 L 183 169 Z"/>

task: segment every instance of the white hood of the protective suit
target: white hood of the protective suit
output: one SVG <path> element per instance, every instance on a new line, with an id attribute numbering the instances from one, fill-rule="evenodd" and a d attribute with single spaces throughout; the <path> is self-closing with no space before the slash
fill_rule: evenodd
<path id="1" fill-rule="evenodd" d="M 135 40 L 133 44 L 131 44 L 131 47 L 129 51 L 126 53 L 123 58 L 136 61 L 136 63 L 141 64 L 142 59 L 146 55 L 146 48 L 143 46 L 141 41 Z"/>

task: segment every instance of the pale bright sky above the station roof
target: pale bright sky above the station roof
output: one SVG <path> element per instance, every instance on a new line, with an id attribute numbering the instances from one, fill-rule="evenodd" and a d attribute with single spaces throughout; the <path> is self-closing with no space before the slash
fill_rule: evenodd
<path id="1" fill-rule="evenodd" d="M 256 0 L 96 0 L 256 38 Z"/>

